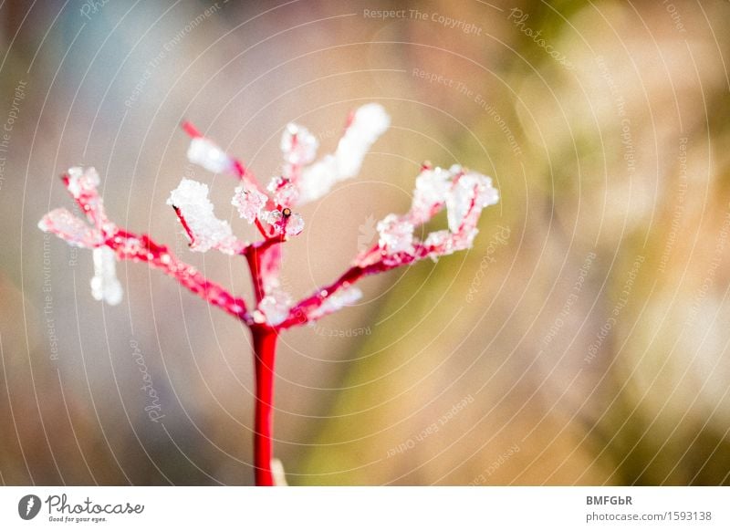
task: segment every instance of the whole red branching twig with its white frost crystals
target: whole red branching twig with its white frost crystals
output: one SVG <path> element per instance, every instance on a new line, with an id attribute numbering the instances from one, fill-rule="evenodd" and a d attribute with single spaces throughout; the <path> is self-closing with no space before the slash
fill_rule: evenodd
<path id="1" fill-rule="evenodd" d="M 377 227 L 379 239 L 375 245 L 360 254 L 332 284 L 292 304 L 291 297 L 280 288 L 278 278 L 281 244 L 304 228 L 301 215 L 292 208 L 318 199 L 337 182 L 359 172 L 370 145 L 389 123 L 388 115 L 379 105 L 357 109 L 349 115 L 337 150 L 318 161 L 315 161 L 318 142 L 314 136 L 303 127 L 289 124 L 281 141 L 285 164 L 281 176 L 268 186 L 271 195 L 265 193 L 243 162 L 203 137 L 190 122 L 183 123 L 183 129 L 192 138 L 188 150 L 190 161 L 211 172 L 228 173 L 241 182 L 232 203 L 264 239 L 249 244 L 235 238 L 231 226 L 215 217 L 214 206 L 208 200 L 208 186 L 201 182 L 183 179 L 172 191 L 168 204 L 182 224 L 192 251 L 215 249 L 226 255 L 245 257 L 255 294 L 255 307 L 250 311 L 243 298 L 205 278 L 165 245 L 155 243 L 147 234 L 134 234 L 111 223 L 98 193 L 99 175 L 93 168 L 72 168 L 63 175 L 64 185 L 90 225 L 62 208 L 47 213 L 39 223 L 42 230 L 57 234 L 71 245 L 93 249 L 94 297 L 117 304 L 121 286 L 115 276 L 116 260 L 146 262 L 248 326 L 255 355 L 256 484 L 275 484 L 271 471 L 272 411 L 278 334 L 353 304 L 361 296 L 355 284 L 365 276 L 470 247 L 482 210 L 498 201 L 488 177 L 460 166 L 443 170 L 424 163 L 416 179 L 411 210 L 404 215 L 389 214 L 383 218 Z M 448 214 L 448 230 L 428 234 L 423 241 L 416 238 L 414 228 L 431 220 L 443 208 Z"/>

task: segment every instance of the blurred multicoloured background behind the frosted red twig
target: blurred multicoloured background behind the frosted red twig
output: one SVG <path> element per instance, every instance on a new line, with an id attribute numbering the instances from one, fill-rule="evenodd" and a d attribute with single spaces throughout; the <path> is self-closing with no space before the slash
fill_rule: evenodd
<path id="1" fill-rule="evenodd" d="M 391 130 L 303 209 L 287 289 L 338 276 L 422 161 L 502 200 L 470 252 L 282 337 L 289 484 L 730 483 L 728 22 L 719 0 L 0 3 L 0 481 L 253 483 L 245 328 L 139 264 L 102 305 L 89 251 L 36 224 L 95 166 L 115 222 L 250 297 L 165 205 L 194 177 L 253 235 L 181 121 L 268 182 L 288 121 L 324 153 L 377 101 Z"/>

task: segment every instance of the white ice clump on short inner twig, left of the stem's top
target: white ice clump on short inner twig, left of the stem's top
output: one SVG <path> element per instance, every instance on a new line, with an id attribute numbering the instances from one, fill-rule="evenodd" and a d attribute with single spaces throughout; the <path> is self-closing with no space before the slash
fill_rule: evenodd
<path id="1" fill-rule="evenodd" d="M 188 225 L 192 233 L 191 250 L 204 253 L 215 248 L 226 255 L 235 255 L 240 250 L 231 225 L 215 217 L 207 184 L 183 179 L 170 193 L 167 204 L 179 209 Z"/>

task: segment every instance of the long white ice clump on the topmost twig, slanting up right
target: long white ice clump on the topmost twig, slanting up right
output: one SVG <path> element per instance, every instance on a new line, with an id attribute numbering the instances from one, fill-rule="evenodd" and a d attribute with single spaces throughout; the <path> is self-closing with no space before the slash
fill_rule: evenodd
<path id="1" fill-rule="evenodd" d="M 300 203 L 318 199 L 339 181 L 353 177 L 360 171 L 365 153 L 378 140 L 391 119 L 377 103 L 357 109 L 345 134 L 339 140 L 337 151 L 308 166 L 301 175 Z"/>

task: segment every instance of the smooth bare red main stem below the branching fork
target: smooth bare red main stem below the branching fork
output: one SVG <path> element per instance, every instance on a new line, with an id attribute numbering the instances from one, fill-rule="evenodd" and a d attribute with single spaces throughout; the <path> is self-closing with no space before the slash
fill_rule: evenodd
<path id="1" fill-rule="evenodd" d="M 255 363 L 255 421 L 254 467 L 257 486 L 273 486 L 271 474 L 272 405 L 274 402 L 274 360 L 276 358 L 276 329 L 266 326 L 251 327 Z"/>

